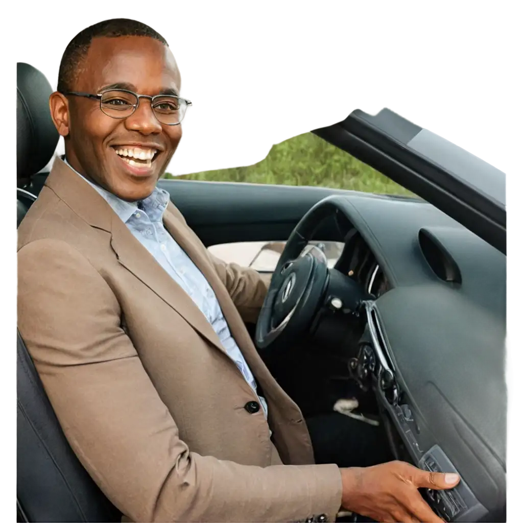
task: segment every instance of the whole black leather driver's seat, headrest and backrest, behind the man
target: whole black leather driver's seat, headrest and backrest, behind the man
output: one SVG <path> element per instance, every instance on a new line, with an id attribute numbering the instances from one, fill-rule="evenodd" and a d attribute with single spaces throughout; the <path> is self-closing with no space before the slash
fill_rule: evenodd
<path id="1" fill-rule="evenodd" d="M 30 63 L 18 64 L 17 226 L 36 200 L 31 176 L 48 164 L 58 143 L 49 114 L 51 92 L 41 71 Z M 17 385 L 18 521 L 120 521 L 120 512 L 69 446 L 19 333 Z"/>

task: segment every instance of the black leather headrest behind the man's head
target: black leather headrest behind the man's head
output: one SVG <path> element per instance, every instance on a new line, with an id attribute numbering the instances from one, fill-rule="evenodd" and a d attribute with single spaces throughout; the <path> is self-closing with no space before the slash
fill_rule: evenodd
<path id="1" fill-rule="evenodd" d="M 53 87 L 43 71 L 29 62 L 18 62 L 16 92 L 17 178 L 27 182 L 51 160 L 59 134 L 49 112 Z"/>

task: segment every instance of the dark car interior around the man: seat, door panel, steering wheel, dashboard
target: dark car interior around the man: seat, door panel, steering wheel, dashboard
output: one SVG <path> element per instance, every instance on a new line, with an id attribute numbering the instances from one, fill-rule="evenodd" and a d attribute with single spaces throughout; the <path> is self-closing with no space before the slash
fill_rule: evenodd
<path id="1" fill-rule="evenodd" d="M 38 67 L 18 64 L 17 226 L 58 144 L 51 90 Z M 357 415 L 383 424 L 396 459 L 462 474 L 448 496 L 424 493 L 441 517 L 505 520 L 507 354 L 490 350 L 504 332 L 505 256 L 421 200 L 195 183 L 159 184 L 206 246 L 288 238 L 267 298 L 272 317 L 247 328 L 304 416 L 356 398 Z M 306 248 L 318 240 L 345 245 L 335 267 Z M 307 298 L 287 301 L 300 286 Z M 19 333 L 17 355 L 18 521 L 119 521 L 63 435 Z M 489 402 L 500 408 L 486 417 Z"/>

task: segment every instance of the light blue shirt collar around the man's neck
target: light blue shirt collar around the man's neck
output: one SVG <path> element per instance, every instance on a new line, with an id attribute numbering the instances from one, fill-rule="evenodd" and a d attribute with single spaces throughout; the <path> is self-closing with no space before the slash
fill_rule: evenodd
<path id="1" fill-rule="evenodd" d="M 111 209 L 115 211 L 116 214 L 118 214 L 118 217 L 124 223 L 127 223 L 132 217 L 132 215 L 139 208 L 142 211 L 144 211 L 145 214 L 147 214 L 151 221 L 162 220 L 163 213 L 165 212 L 165 209 L 167 209 L 167 205 L 169 203 L 169 193 L 166 190 L 160 189 L 159 187 L 155 187 L 152 194 L 147 198 L 141 200 L 139 205 L 138 202 L 129 202 L 122 200 L 121 198 L 118 198 L 118 196 L 113 195 L 112 192 L 109 192 L 103 187 L 94 184 L 85 176 L 82 176 L 80 173 L 78 173 L 76 169 L 71 167 L 71 164 L 67 162 L 67 159 L 65 157 L 63 158 L 63 161 L 65 165 L 67 165 L 67 167 L 73 170 L 79 177 L 84 179 L 91 187 L 93 187 L 93 189 L 95 189 L 98 192 L 98 194 L 102 198 L 104 198 L 104 200 L 109 204 Z"/>

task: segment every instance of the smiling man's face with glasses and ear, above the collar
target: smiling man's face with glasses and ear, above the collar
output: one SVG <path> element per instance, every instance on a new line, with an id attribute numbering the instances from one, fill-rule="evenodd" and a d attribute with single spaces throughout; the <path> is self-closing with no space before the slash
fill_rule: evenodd
<path id="1" fill-rule="evenodd" d="M 89 26 L 82 28 L 62 58 L 50 99 L 67 162 L 125 201 L 152 194 L 182 139 L 179 124 L 190 105 L 179 96 L 175 51 L 152 29 L 141 32 L 141 38 L 116 38 L 115 30 L 113 38 L 92 39 Z"/>

